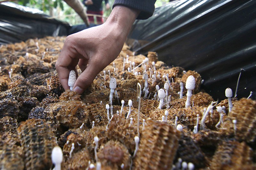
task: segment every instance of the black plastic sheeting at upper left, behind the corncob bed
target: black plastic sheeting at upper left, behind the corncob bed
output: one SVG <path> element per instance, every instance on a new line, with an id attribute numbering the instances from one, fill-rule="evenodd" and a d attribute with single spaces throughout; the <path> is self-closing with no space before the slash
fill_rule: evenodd
<path id="1" fill-rule="evenodd" d="M 45 36 L 66 36 L 71 26 L 49 19 L 43 11 L 15 3 L 0 4 L 0 44 L 26 41 Z"/>

